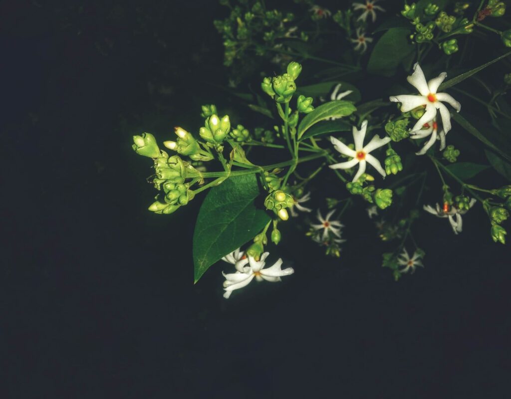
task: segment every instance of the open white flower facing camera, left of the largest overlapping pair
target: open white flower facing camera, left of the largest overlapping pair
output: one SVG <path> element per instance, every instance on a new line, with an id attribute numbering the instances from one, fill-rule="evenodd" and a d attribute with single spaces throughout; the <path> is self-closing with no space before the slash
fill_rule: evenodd
<path id="1" fill-rule="evenodd" d="M 378 159 L 376 159 L 373 155 L 369 153 L 381 146 L 384 146 L 388 142 L 390 142 L 390 137 L 380 138 L 378 134 L 375 134 L 373 138 L 371 138 L 370 142 L 363 146 L 365 132 L 367 130 L 367 121 L 362 122 L 362 126 L 360 130 L 358 130 L 355 126 L 353 127 L 353 139 L 355 141 L 355 150 L 352 150 L 350 147 L 343 144 L 340 140 L 335 137 L 330 137 L 330 141 L 334 145 L 334 148 L 339 151 L 343 155 L 347 155 L 352 157 L 353 159 L 347 162 L 335 163 L 334 165 L 330 165 L 332 169 L 350 169 L 355 165 L 359 165 L 358 172 L 353 178 L 353 181 L 357 181 L 358 178 L 365 173 L 366 161 L 370 163 L 383 177 L 386 176 L 385 170 L 382 168 L 381 163 Z"/>

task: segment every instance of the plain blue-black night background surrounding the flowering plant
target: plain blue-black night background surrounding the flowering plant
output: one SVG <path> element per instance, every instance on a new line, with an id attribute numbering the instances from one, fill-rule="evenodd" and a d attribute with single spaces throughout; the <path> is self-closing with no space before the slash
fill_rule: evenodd
<path id="1" fill-rule="evenodd" d="M 341 262 L 284 239 L 283 283 L 226 301 L 217 266 L 193 286 L 200 199 L 149 213 L 130 141 L 233 106 L 207 84 L 227 80 L 225 11 L 151 3 L 0 3 L 2 397 L 507 397 L 509 248 L 481 208 L 458 237 L 422 218 L 426 267 L 399 283 L 354 213 Z M 133 34 L 136 7 L 166 47 Z"/>

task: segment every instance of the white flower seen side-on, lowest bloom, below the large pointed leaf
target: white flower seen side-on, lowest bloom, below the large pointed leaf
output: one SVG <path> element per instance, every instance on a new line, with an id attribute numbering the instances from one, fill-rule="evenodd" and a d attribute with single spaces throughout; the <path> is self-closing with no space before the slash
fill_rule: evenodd
<path id="1" fill-rule="evenodd" d="M 266 280 L 271 283 L 276 283 L 276 281 L 281 280 L 282 276 L 288 276 L 294 273 L 292 267 L 288 267 L 284 270 L 281 269 L 282 259 L 276 261 L 273 266 L 264 269 L 268 255 L 269 252 L 263 253 L 260 261 L 256 261 L 252 256 L 248 256 L 248 266 L 244 266 L 243 270 L 230 274 L 222 272 L 225 277 L 223 283 L 225 291 L 223 295 L 224 298 L 228 298 L 234 290 L 246 287 L 254 277 L 258 281 Z"/>

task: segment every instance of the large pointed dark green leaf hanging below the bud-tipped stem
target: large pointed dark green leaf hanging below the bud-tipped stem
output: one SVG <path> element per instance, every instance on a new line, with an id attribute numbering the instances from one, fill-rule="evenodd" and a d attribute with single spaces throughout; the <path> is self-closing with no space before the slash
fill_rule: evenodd
<path id="1" fill-rule="evenodd" d="M 253 174 L 230 177 L 207 194 L 193 236 L 195 283 L 211 265 L 253 239 L 270 221 L 254 205 L 259 194 Z"/>

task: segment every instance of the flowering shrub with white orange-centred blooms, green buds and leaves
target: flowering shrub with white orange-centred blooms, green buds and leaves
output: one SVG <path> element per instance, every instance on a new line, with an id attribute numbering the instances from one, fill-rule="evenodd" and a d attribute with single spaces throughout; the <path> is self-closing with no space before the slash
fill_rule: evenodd
<path id="1" fill-rule="evenodd" d="M 365 204 L 367 217 L 375 220 L 380 239 L 394 243 L 392 250 L 383 254 L 382 266 L 389 268 L 396 280 L 412 274 L 416 267 L 424 267 L 425 251 L 414 237 L 415 222 L 420 218 L 434 215 L 447 219 L 453 234 L 459 234 L 463 231 L 463 218 L 468 218 L 470 210 L 480 205 L 489 217 L 490 237 L 504 244 L 503 224 L 511 210 L 511 185 L 481 187 L 472 180 L 480 173 L 490 173 L 490 165 L 502 175 L 502 181 L 511 180 L 511 137 L 495 139 L 487 127 L 481 131 L 480 121 L 475 121 L 471 113 L 462 112 L 453 95 L 463 96 L 470 109 L 474 104 L 484 103 L 481 114 L 491 120 L 494 129 L 505 129 L 507 125 L 502 121 L 511 119 L 507 112 L 511 107 L 503 95 L 511 85 L 511 75 L 505 75 L 504 85 L 492 90 L 491 83 L 481 80 L 479 73 L 499 61 L 509 65 L 511 52 L 460 71 L 450 80 L 442 69 L 449 71 L 448 65 L 456 53 L 454 48 L 457 49 L 457 43 L 452 42 L 455 39 L 442 40 L 472 33 L 481 27 L 484 12 L 488 16 L 502 16 L 503 3 L 478 2 L 472 9 L 469 3 L 467 7 L 451 2 L 442 7 L 427 2 L 405 5 L 399 17 L 394 15 L 394 19 L 383 22 L 385 29 L 381 26 L 373 29 L 384 33 L 368 59 L 364 57 L 371 38 L 364 35 L 369 24 L 374 24 L 377 16 L 386 11 L 380 5 L 383 3 L 368 0 L 336 13 L 311 2 L 303 3 L 311 6 L 305 17 L 319 24 L 315 39 L 321 37 L 322 31 L 327 35 L 325 22 L 331 19 L 339 32 L 346 35 L 347 44 L 351 41 L 355 44 L 356 40 L 350 55 L 357 57 L 356 63 L 349 65 L 338 59 L 330 62 L 339 65 L 336 73 L 345 71 L 345 65 L 349 65 L 351 80 L 299 84 L 302 79 L 317 79 L 324 73 L 320 65 L 328 63 L 327 58 L 304 53 L 300 61 L 312 65 L 308 74 L 307 68 L 303 73 L 300 62 L 291 61 L 285 73 L 267 75 L 259 82 L 261 90 L 247 104 L 265 118 L 257 127 L 251 127 L 250 116 L 246 122 L 231 124 L 228 115 L 220 116 L 216 105 L 204 105 L 201 113 L 204 123 L 196 130 L 198 134 L 176 127 L 176 138 L 163 143 L 165 151 L 150 133 L 133 137 L 133 149 L 153 160 L 155 172 L 149 182 L 158 194 L 149 210 L 170 215 L 208 191 L 194 232 L 195 282 L 219 261 L 234 266 L 234 270 L 222 272 L 225 298 L 254 279 L 274 283 L 293 274 L 293 268 L 282 269 L 282 259 L 266 267 L 270 256 L 267 248 L 278 246 L 283 240 L 279 228 L 282 223 L 305 226 L 305 236 L 323 247 L 326 255 L 340 257 L 346 242 L 344 229 L 349 228 L 342 223 L 342 216 L 361 204 Z M 251 7 L 248 13 L 252 13 L 245 13 L 244 20 L 240 16 L 242 6 Z M 271 15 L 262 3 L 250 6 L 249 2 L 240 2 L 237 7 L 231 7 L 228 21 L 236 16 L 238 32 L 243 28 L 242 32 L 251 37 L 250 21 L 257 18 L 263 18 L 263 22 L 252 26 L 253 29 L 272 26 L 264 22 Z M 447 14 L 449 7 L 455 16 Z M 464 14 L 471 10 L 474 14 L 469 20 Z M 284 14 L 272 15 L 271 18 L 280 20 Z M 292 18 L 288 15 L 286 19 Z M 216 22 L 216 26 L 221 25 L 223 34 L 232 36 L 226 21 L 223 25 Z M 283 21 L 278 26 L 282 28 L 282 24 Z M 393 24 L 400 27 L 394 28 Z M 407 24 L 414 27 L 414 33 L 410 34 Z M 496 30 L 502 43 L 511 46 L 511 42 L 504 40 L 507 31 L 487 28 L 483 32 L 494 34 Z M 351 38 L 353 33 L 357 39 Z M 244 34 L 238 33 L 236 37 L 242 41 Z M 470 43 L 469 37 L 466 39 Z M 433 44 L 438 45 L 438 57 L 431 63 L 427 55 L 433 54 Z M 230 44 L 225 45 L 227 51 Z M 244 49 L 247 48 L 248 44 Z M 282 55 L 292 53 L 285 45 L 273 50 L 282 50 Z M 407 64 L 411 74 L 406 80 L 410 86 L 400 82 L 404 76 L 399 68 L 403 65 L 406 68 Z M 392 87 L 396 91 L 391 86 L 388 93 L 371 91 L 369 86 L 362 96 L 358 85 L 367 87 L 364 79 L 394 75 L 397 83 Z M 469 81 L 489 89 L 491 100 L 483 101 L 459 89 L 460 83 Z M 453 95 L 446 89 L 452 90 Z M 363 97 L 373 100 L 362 102 Z M 450 132 L 456 133 L 448 136 Z M 458 143 L 467 147 L 463 137 L 467 134 L 485 147 L 490 165 L 476 163 L 469 157 L 457 161 L 463 157 Z M 437 142 L 439 145 L 435 146 Z M 331 184 L 332 179 L 340 182 L 338 198 L 325 198 L 317 187 Z M 485 181 L 492 185 L 494 180 Z M 434 205 L 424 200 L 430 186 L 437 193 Z M 310 207 L 314 203 L 322 203 L 315 212 Z"/>

